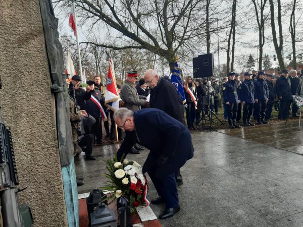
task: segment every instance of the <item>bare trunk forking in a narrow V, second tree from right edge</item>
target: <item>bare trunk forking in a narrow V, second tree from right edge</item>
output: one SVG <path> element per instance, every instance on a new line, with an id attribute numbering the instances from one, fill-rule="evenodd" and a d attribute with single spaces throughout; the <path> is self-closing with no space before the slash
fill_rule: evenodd
<path id="1" fill-rule="evenodd" d="M 281 1 L 277 0 L 278 2 L 278 26 L 279 26 L 279 44 L 277 40 L 277 32 L 275 26 L 275 6 L 273 0 L 269 0 L 270 3 L 270 20 L 271 20 L 271 28 L 272 28 L 272 35 L 273 35 L 273 42 L 275 46 L 275 50 L 277 53 L 277 59 L 280 65 L 280 69 L 285 69 L 284 59 L 282 55 L 282 48 L 283 48 L 283 33 L 282 33 L 282 22 L 281 22 Z"/>

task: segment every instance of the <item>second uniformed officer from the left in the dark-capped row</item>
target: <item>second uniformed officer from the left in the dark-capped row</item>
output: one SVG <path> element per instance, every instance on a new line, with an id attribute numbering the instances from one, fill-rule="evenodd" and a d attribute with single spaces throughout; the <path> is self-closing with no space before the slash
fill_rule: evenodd
<path id="1" fill-rule="evenodd" d="M 243 126 L 254 126 L 250 122 L 255 103 L 255 85 L 251 81 L 251 73 L 244 73 L 244 81 L 239 85 L 239 97 L 243 105 Z"/>

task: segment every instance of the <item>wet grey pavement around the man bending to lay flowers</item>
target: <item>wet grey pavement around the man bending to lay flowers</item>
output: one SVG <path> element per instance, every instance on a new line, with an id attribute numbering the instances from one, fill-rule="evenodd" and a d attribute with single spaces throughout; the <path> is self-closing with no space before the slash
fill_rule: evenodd
<path id="1" fill-rule="evenodd" d="M 278 131 L 274 136 L 279 136 L 284 129 L 280 124 L 277 127 L 262 126 L 266 132 Z M 289 122 L 288 128 L 292 127 L 295 123 Z M 261 130 L 259 126 L 249 130 L 254 128 Z M 303 226 L 303 156 L 242 139 L 243 134 L 252 138 L 262 130 L 245 133 L 246 129 L 230 132 L 233 136 L 192 133 L 194 157 L 181 168 L 184 184 L 178 187 L 181 211 L 160 220 L 163 226 Z M 75 159 L 77 175 L 85 178 L 79 194 L 103 184 L 105 160 L 116 146 L 95 147 L 95 161 L 85 161 L 82 155 Z M 127 158 L 142 164 L 147 154 L 142 151 Z M 148 198 L 157 197 L 153 184 L 149 186 Z M 151 208 L 159 216 L 164 206 L 152 204 Z"/>

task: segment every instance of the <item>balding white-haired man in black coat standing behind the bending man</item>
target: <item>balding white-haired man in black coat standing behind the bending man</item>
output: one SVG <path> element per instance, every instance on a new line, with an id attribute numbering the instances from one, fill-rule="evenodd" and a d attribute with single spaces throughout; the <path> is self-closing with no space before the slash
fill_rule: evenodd
<path id="1" fill-rule="evenodd" d="M 183 103 L 175 86 L 163 77 L 159 77 L 157 71 L 153 69 L 145 72 L 144 80 L 150 88 L 150 107 L 163 110 L 185 125 Z M 183 184 L 180 169 L 176 173 L 176 182 L 178 186 Z"/>

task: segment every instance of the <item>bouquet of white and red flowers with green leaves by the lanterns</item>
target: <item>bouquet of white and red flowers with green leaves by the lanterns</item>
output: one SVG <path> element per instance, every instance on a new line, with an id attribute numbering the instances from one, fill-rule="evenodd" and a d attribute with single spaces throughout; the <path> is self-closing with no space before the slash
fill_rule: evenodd
<path id="1" fill-rule="evenodd" d="M 104 174 L 109 180 L 106 186 L 100 187 L 112 194 L 106 200 L 112 203 L 115 198 L 125 196 L 129 199 L 132 212 L 139 205 L 148 206 L 146 199 L 148 186 L 146 177 L 142 174 L 142 167 L 136 161 L 124 159 L 123 162 L 116 161 L 117 158 L 109 159 L 106 168 L 109 174 Z"/>

